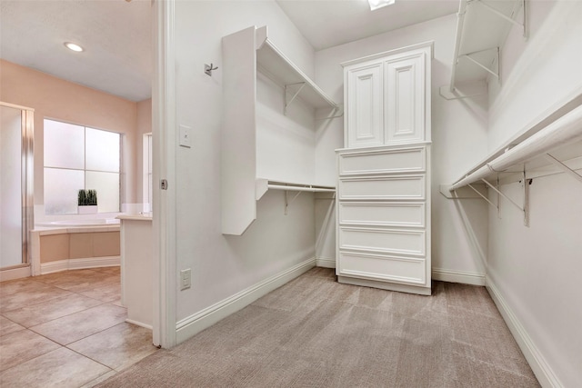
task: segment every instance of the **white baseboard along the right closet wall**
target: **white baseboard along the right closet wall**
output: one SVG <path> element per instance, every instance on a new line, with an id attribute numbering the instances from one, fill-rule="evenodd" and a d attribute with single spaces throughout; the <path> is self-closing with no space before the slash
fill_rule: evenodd
<path id="1" fill-rule="evenodd" d="M 491 295 L 491 299 L 497 305 L 497 310 L 503 316 L 509 331 L 516 339 L 521 352 L 524 353 L 527 363 L 529 363 L 532 371 L 536 374 L 537 381 L 543 387 L 563 387 L 562 383 L 557 379 L 556 373 L 548 365 L 542 353 L 539 352 L 536 344 L 531 340 L 526 329 L 519 322 L 516 314 L 513 313 L 490 276 L 487 276 L 486 287 L 487 292 Z"/>

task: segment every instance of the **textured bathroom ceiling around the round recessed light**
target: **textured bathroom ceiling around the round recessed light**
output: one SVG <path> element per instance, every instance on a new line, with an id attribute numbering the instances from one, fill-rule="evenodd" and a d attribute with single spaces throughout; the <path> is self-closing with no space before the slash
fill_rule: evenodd
<path id="1" fill-rule="evenodd" d="M 151 36 L 149 0 L 0 1 L 3 59 L 131 101 L 151 96 Z"/>

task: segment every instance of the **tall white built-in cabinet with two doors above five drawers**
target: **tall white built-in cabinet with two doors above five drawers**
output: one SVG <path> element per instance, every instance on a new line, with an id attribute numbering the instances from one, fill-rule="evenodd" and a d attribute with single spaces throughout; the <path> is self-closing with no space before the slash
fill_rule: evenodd
<path id="1" fill-rule="evenodd" d="M 337 153 L 336 274 L 430 294 L 432 42 L 346 62 Z"/>

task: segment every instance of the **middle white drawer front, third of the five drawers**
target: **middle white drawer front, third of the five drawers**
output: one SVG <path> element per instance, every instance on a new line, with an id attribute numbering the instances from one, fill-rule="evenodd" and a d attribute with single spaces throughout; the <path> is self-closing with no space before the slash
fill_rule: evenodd
<path id="1" fill-rule="evenodd" d="M 342 202 L 337 210 L 340 224 L 425 226 L 424 203 Z"/>

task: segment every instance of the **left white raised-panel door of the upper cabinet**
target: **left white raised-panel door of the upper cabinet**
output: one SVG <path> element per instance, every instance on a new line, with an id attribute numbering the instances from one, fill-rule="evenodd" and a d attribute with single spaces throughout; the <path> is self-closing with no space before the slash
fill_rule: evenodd
<path id="1" fill-rule="evenodd" d="M 347 71 L 346 146 L 384 144 L 382 63 Z"/>

